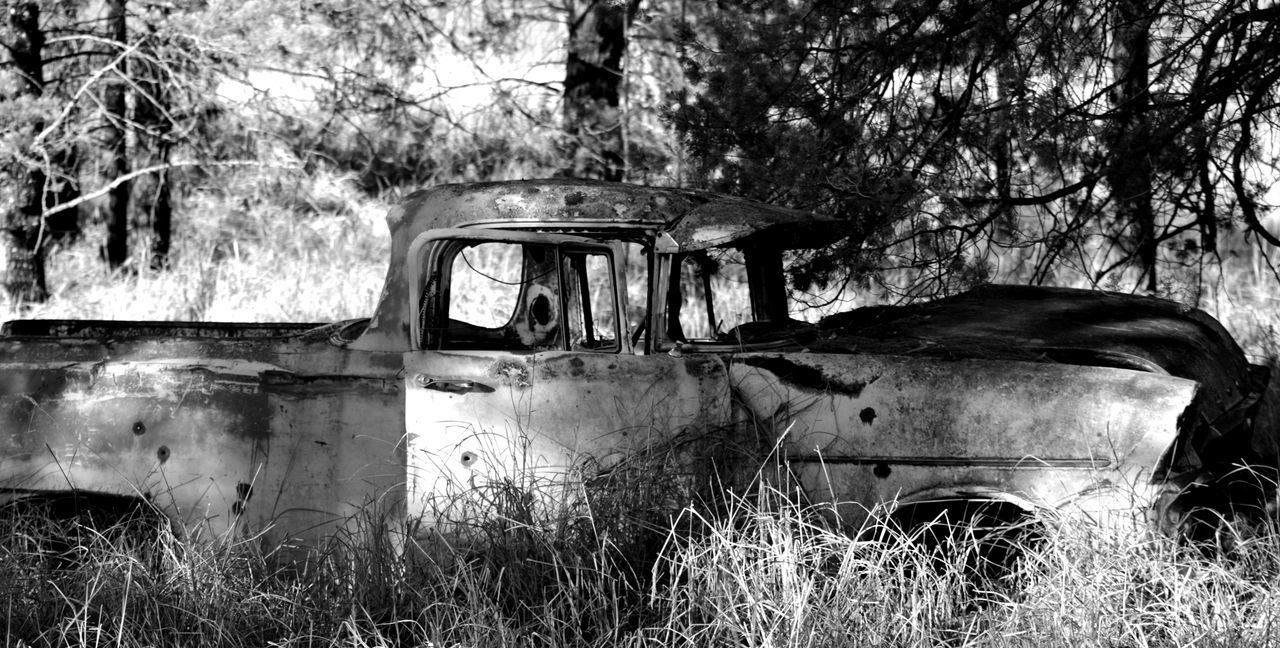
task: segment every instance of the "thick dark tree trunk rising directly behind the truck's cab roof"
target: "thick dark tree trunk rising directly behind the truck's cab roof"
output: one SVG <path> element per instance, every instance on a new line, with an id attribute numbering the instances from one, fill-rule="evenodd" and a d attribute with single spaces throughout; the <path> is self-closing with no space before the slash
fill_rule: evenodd
<path id="1" fill-rule="evenodd" d="M 566 174 L 621 181 L 626 175 L 620 97 L 627 26 L 640 0 L 589 0 L 570 5 L 564 69 L 564 132 L 570 136 Z"/>

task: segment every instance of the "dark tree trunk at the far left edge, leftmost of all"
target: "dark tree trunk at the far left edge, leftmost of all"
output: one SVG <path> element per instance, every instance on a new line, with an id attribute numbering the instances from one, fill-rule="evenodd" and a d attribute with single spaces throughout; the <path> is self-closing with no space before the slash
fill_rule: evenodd
<path id="1" fill-rule="evenodd" d="M 14 93 L 37 97 L 45 87 L 45 35 L 40 31 L 40 6 L 36 3 L 10 6 L 9 27 L 13 32 L 10 54 L 20 77 Z M 40 128 L 38 123 L 32 126 L 32 131 Z M 8 252 L 4 288 L 14 302 L 41 302 L 49 298 L 41 201 L 45 173 L 15 159 L 5 164 L 5 175 L 8 190 L 0 187 Z"/>

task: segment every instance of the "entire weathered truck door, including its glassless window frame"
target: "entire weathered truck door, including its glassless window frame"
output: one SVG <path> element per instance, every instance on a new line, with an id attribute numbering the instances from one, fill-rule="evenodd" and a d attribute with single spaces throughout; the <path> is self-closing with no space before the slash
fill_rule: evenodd
<path id="1" fill-rule="evenodd" d="M 627 457 L 724 429 L 716 357 L 635 355 L 617 246 L 440 231 L 411 250 L 408 512 L 435 524 L 570 506 Z M 522 511 L 529 512 L 529 511 Z"/>

